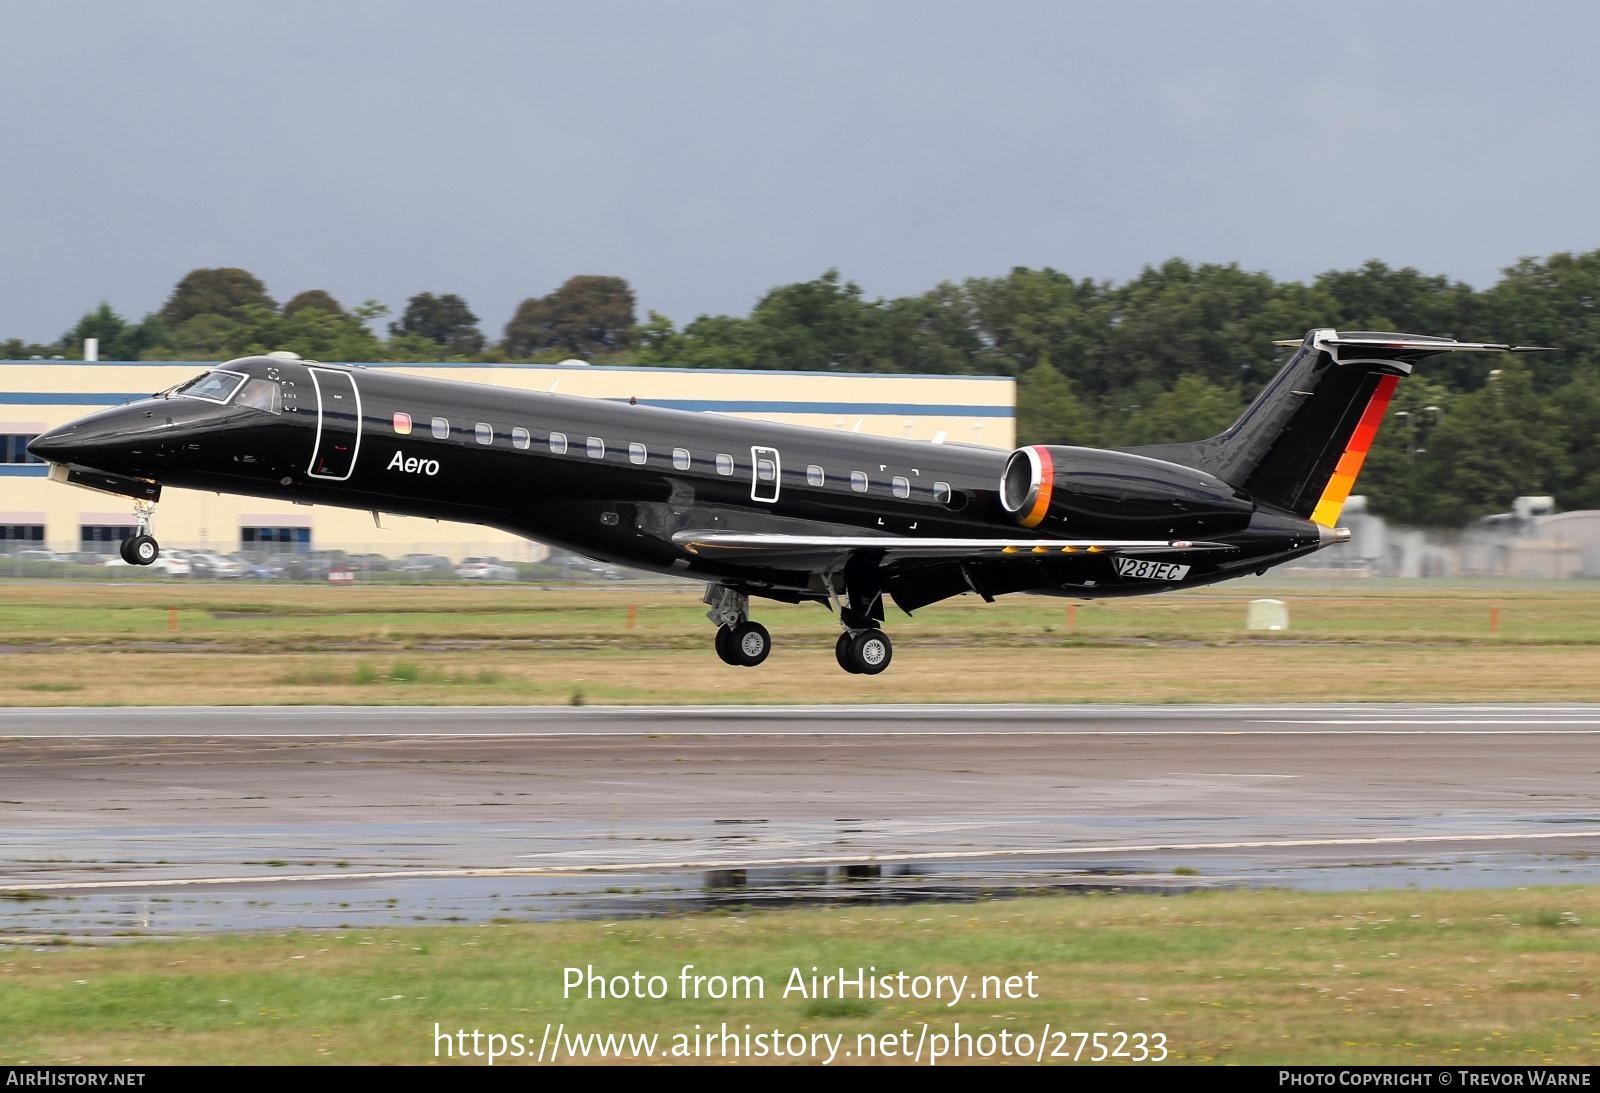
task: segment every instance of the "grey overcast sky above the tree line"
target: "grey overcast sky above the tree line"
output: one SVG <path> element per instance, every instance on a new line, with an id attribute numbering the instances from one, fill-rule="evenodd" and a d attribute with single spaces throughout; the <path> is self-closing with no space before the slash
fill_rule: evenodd
<path id="1" fill-rule="evenodd" d="M 1600 246 L 1600 3 L 0 0 L 0 338 L 187 270 L 573 274 L 678 325 L 1171 256 L 1477 286 Z"/>

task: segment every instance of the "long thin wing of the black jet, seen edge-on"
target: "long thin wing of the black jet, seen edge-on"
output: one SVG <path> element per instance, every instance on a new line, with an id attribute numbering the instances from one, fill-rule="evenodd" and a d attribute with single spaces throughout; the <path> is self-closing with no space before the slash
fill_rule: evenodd
<path id="1" fill-rule="evenodd" d="M 856 552 L 899 559 L 1005 559 L 1040 554 L 1174 554 L 1232 551 L 1226 542 L 1189 539 L 918 539 L 899 534 L 774 534 L 762 531 L 678 531 L 672 542 L 701 557 L 778 560 Z"/>

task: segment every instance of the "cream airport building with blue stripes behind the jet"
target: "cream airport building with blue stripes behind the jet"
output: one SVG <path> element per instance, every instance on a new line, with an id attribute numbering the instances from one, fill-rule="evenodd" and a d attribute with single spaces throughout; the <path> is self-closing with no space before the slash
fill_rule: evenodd
<path id="1" fill-rule="evenodd" d="M 74 418 L 181 384 L 206 362 L 0 362 L 0 552 L 114 554 L 131 534 L 133 502 L 50 482 L 27 442 Z M 434 379 L 630 398 L 675 410 L 1011 448 L 1016 384 L 1006 376 L 898 376 L 734 371 L 714 368 L 373 363 Z M 392 559 L 437 554 L 536 562 L 544 547 L 470 525 L 296 506 L 282 501 L 165 490 L 155 518 L 163 547 L 371 552 Z"/>

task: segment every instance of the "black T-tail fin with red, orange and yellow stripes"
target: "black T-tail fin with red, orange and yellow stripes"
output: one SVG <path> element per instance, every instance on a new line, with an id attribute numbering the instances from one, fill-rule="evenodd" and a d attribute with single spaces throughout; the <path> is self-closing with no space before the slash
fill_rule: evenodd
<path id="1" fill-rule="evenodd" d="M 1258 504 L 1331 528 L 1378 435 L 1402 376 L 1424 357 L 1534 352 L 1533 346 L 1312 330 L 1250 408 L 1226 432 L 1139 454 L 1214 474 Z"/>

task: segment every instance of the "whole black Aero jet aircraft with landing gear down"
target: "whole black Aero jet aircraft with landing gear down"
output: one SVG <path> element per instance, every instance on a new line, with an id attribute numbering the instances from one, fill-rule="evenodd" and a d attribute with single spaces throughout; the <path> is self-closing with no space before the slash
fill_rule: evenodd
<path id="1" fill-rule="evenodd" d="M 715 648 L 766 659 L 750 597 L 832 605 L 846 672 L 893 647 L 885 599 L 1141 595 L 1210 584 L 1349 539 L 1338 528 L 1398 379 L 1429 355 L 1517 352 L 1312 330 L 1208 440 L 998 451 L 630 402 L 243 357 L 80 418 L 29 450 L 58 482 L 134 499 L 149 565 L 163 486 L 501 528 L 707 584 Z"/>

